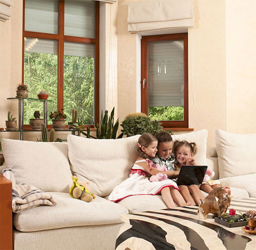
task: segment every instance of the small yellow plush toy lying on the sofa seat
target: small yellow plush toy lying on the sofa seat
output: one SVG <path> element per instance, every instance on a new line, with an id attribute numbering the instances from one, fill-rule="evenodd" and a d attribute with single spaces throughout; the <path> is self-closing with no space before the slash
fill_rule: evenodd
<path id="1" fill-rule="evenodd" d="M 72 176 L 73 185 L 69 189 L 69 194 L 75 199 L 81 199 L 86 202 L 92 201 L 95 195 L 89 191 L 89 182 L 78 182 L 78 177 Z"/>

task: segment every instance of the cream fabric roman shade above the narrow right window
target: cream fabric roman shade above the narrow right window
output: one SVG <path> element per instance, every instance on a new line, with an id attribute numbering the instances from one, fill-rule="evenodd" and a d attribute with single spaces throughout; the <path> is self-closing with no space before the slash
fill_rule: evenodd
<path id="1" fill-rule="evenodd" d="M 148 0 L 129 3 L 128 31 L 138 32 L 194 25 L 194 0 Z"/>

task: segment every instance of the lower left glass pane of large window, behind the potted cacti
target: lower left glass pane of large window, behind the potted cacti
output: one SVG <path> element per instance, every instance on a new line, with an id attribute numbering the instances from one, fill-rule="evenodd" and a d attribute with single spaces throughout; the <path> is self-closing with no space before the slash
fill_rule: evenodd
<path id="1" fill-rule="evenodd" d="M 25 37 L 24 42 L 24 83 L 29 86 L 29 97 L 37 98 L 41 90 L 49 94 L 48 113 L 57 110 L 58 83 L 58 41 Z M 24 123 L 34 118 L 35 110 L 43 116 L 43 103 L 40 101 L 24 102 Z M 43 117 L 42 117 L 43 118 Z M 48 117 L 48 123 L 51 120 Z"/>

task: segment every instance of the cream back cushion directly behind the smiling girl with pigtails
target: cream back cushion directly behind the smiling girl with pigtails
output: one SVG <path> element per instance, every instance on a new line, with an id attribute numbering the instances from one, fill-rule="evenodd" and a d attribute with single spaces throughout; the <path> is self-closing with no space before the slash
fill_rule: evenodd
<path id="1" fill-rule="evenodd" d="M 187 140 L 188 142 L 195 142 L 197 145 L 197 153 L 195 154 L 194 158 L 198 164 L 206 165 L 207 134 L 207 130 L 202 129 L 190 133 L 174 134 L 172 137 L 173 141 Z"/>

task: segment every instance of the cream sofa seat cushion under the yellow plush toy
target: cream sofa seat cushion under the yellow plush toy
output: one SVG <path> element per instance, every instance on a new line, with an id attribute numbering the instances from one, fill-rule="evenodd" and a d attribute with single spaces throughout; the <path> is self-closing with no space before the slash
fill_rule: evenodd
<path id="1" fill-rule="evenodd" d="M 14 215 L 14 226 L 20 231 L 121 223 L 127 209 L 96 196 L 91 202 L 72 198 L 68 193 L 51 192 L 55 206 L 37 206 Z M 88 235 L 87 235 L 88 236 Z"/>

